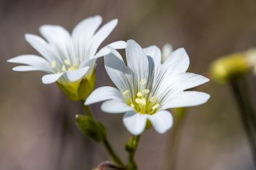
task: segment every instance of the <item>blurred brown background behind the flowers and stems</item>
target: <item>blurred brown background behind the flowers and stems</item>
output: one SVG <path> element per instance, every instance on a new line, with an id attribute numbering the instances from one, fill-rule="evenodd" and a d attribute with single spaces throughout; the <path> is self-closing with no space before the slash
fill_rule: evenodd
<path id="1" fill-rule="evenodd" d="M 80 104 L 69 101 L 53 85 L 43 85 L 42 72 L 12 72 L 7 59 L 37 53 L 24 34 L 39 34 L 42 24 L 69 31 L 83 18 L 102 15 L 103 23 L 118 18 L 118 26 L 102 44 L 135 39 L 141 46 L 166 42 L 185 47 L 190 72 L 208 74 L 214 59 L 256 46 L 254 0 L 0 0 L 0 169 L 89 170 L 108 154 L 83 136 L 75 125 Z M 255 77 L 249 75 L 255 103 Z M 113 85 L 97 64 L 97 87 Z M 208 103 L 188 109 L 170 169 L 170 136 L 150 129 L 143 134 L 136 159 L 140 169 L 254 169 L 238 108 L 227 85 L 214 81 L 197 90 L 211 94 Z M 122 115 L 107 115 L 99 104 L 92 109 L 108 128 L 110 142 L 123 159 L 129 133 Z M 174 114 L 175 115 L 175 114 Z"/>

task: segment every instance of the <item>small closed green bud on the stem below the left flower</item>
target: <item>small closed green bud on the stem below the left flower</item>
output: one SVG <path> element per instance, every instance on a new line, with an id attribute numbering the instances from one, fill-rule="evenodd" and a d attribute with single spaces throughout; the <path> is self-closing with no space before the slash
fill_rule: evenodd
<path id="1" fill-rule="evenodd" d="M 80 131 L 89 136 L 96 142 L 102 142 L 106 137 L 106 129 L 102 123 L 91 117 L 84 115 L 76 115 L 76 124 Z"/>

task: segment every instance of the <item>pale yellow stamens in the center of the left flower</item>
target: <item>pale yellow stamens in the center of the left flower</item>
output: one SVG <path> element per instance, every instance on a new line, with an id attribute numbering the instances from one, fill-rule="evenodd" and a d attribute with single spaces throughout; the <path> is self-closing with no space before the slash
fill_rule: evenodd
<path id="1" fill-rule="evenodd" d="M 50 66 L 57 73 L 72 71 L 79 69 L 79 59 L 77 58 L 77 63 L 72 63 L 68 59 L 65 59 L 62 63 L 57 63 L 56 61 L 51 61 Z"/>

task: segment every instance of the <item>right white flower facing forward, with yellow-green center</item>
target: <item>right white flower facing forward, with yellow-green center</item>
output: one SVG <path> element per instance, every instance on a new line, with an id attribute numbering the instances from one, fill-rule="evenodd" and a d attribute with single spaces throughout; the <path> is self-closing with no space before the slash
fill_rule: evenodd
<path id="1" fill-rule="evenodd" d="M 141 134 L 147 121 L 163 134 L 173 125 L 173 117 L 165 109 L 196 106 L 210 97 L 207 93 L 187 90 L 208 82 L 208 79 L 186 72 L 189 57 L 183 48 L 170 53 L 161 64 L 158 47 L 142 49 L 129 40 L 126 55 L 128 66 L 116 50 L 112 49 L 104 58 L 105 69 L 118 89 L 97 88 L 85 104 L 105 101 L 101 107 L 104 112 L 126 112 L 123 122 L 131 134 Z"/>

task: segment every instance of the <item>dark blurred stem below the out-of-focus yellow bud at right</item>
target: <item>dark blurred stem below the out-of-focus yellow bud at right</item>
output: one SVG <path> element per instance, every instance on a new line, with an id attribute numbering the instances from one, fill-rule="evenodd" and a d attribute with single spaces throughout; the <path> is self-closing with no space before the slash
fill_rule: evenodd
<path id="1" fill-rule="evenodd" d="M 246 100 L 244 99 L 243 89 L 240 87 L 238 81 L 233 80 L 230 82 L 230 85 L 233 89 L 233 93 L 236 98 L 236 102 L 240 109 L 241 121 L 244 126 L 244 130 L 246 132 L 246 136 L 249 141 L 249 145 L 252 149 L 253 161 L 256 166 L 256 145 L 255 145 L 256 140 L 255 140 L 254 129 L 252 128 L 252 123 L 251 123 L 251 116 L 253 113 L 251 113 L 248 109 L 248 105 L 246 104 Z"/>

